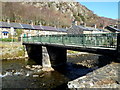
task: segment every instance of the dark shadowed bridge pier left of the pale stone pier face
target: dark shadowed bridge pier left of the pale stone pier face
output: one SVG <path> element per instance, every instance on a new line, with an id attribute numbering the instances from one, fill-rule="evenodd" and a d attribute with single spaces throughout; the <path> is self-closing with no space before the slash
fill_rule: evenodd
<path id="1" fill-rule="evenodd" d="M 41 45 L 25 45 L 29 59 L 42 65 L 42 46 Z"/>

